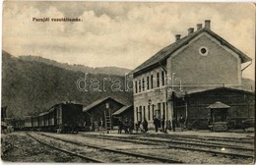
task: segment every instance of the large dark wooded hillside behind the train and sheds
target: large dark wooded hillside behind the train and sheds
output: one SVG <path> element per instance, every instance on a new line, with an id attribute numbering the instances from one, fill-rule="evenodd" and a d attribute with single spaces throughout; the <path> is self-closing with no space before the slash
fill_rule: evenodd
<path id="1" fill-rule="evenodd" d="M 112 96 L 127 104 L 133 101 L 132 92 L 111 91 L 110 81 L 104 84 L 106 91 L 91 91 L 89 86 L 92 83 L 89 81 L 88 91 L 80 91 L 76 83 L 79 79 L 85 78 L 84 72 L 64 69 L 63 64 L 54 61 L 53 64 L 46 63 L 47 59 L 41 60 L 44 62 L 17 58 L 2 51 L 2 106 L 7 106 L 8 117 L 22 118 L 37 114 L 56 103 L 70 100 L 84 105 L 106 96 Z M 113 73 L 95 74 L 96 72 L 89 71 L 87 80 L 98 80 L 100 82 L 98 88 L 101 90 L 103 78 L 111 80 L 115 78 L 124 83 L 124 76 Z"/>

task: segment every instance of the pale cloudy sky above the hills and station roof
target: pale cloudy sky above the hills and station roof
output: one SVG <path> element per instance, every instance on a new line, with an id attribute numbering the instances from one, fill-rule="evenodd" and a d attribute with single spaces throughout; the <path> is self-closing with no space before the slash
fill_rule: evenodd
<path id="1" fill-rule="evenodd" d="M 32 18 L 83 22 L 41 23 Z M 132 70 L 174 42 L 175 34 L 183 37 L 189 27 L 204 25 L 205 20 L 253 59 L 243 77 L 255 80 L 255 6 L 251 3 L 5 1 L 2 48 L 14 56 Z"/>

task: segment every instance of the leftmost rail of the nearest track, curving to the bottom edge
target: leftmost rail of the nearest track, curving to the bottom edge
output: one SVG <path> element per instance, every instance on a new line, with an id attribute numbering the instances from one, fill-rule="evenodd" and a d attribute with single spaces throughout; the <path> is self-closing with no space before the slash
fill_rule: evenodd
<path id="1" fill-rule="evenodd" d="M 62 149 L 62 148 L 56 147 L 56 146 L 54 146 L 54 145 L 51 145 L 51 144 L 49 144 L 49 143 L 43 142 L 42 140 L 33 137 L 33 136 L 32 136 L 31 134 L 29 134 L 29 133 L 27 133 L 27 135 L 28 135 L 29 137 L 31 137 L 32 139 L 36 140 L 37 142 L 39 142 L 39 143 L 41 143 L 41 144 L 43 144 L 43 145 L 46 145 L 46 146 L 48 146 L 48 147 L 51 147 L 51 148 L 53 148 L 53 149 L 59 150 L 59 151 L 61 151 L 61 152 L 65 152 L 65 153 L 71 154 L 71 155 L 73 155 L 73 156 L 80 157 L 80 158 L 85 159 L 85 160 L 87 160 L 87 161 L 90 161 L 90 162 L 92 162 L 92 163 L 105 163 L 105 162 L 102 161 L 102 160 L 98 160 L 98 159 L 95 159 L 95 158 L 92 158 L 92 157 L 87 157 L 87 156 L 85 156 L 85 155 L 82 155 L 82 154 L 79 154 L 79 153 L 76 153 L 76 152 L 73 152 L 73 151 L 70 151 L 70 150 Z"/>

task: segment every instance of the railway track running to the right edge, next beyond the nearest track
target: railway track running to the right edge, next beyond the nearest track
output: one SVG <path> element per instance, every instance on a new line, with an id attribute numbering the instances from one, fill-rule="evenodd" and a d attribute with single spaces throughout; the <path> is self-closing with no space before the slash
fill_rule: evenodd
<path id="1" fill-rule="evenodd" d="M 229 145 L 221 145 L 221 144 L 204 144 L 204 143 L 192 143 L 192 142 L 180 142 L 180 141 L 173 141 L 173 140 L 164 140 L 164 139 L 146 139 L 146 138 L 124 138 L 124 137 L 118 137 L 113 138 L 109 136 L 96 136 L 96 135 L 83 135 L 83 137 L 91 137 L 91 138 L 104 138 L 104 139 L 110 139 L 110 140 L 121 140 L 126 142 L 133 142 L 133 143 L 142 143 L 142 144 L 167 144 L 170 148 L 177 148 L 177 149 L 185 149 L 185 150 L 192 150 L 192 151 L 200 151 L 200 152 L 206 152 L 211 154 L 217 154 L 222 156 L 231 156 L 231 157 L 241 157 L 241 158 L 253 158 L 253 149 L 252 148 L 245 148 L 245 147 L 236 147 L 236 146 L 229 146 Z M 156 143 L 160 142 L 160 143 Z M 173 145 L 170 143 L 176 143 L 178 145 Z M 183 146 L 182 146 L 183 145 Z M 219 147 L 219 148 L 231 148 L 234 150 L 243 150 L 243 151 L 249 151 L 252 152 L 249 154 L 241 154 L 241 153 L 232 153 L 232 152 L 224 152 L 224 151 L 217 151 L 217 150 L 211 150 L 211 149 L 204 149 L 204 148 L 195 148 L 195 147 L 188 147 L 184 145 L 191 145 L 191 146 L 199 146 L 199 147 Z"/>

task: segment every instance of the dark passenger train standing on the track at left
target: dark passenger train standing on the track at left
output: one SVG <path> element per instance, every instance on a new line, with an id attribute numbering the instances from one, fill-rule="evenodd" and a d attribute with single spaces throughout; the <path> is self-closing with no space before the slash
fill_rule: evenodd
<path id="1" fill-rule="evenodd" d="M 23 125 L 15 125 L 15 130 L 77 133 L 83 130 L 83 105 L 71 102 L 59 103 L 48 111 L 20 120 Z"/>

